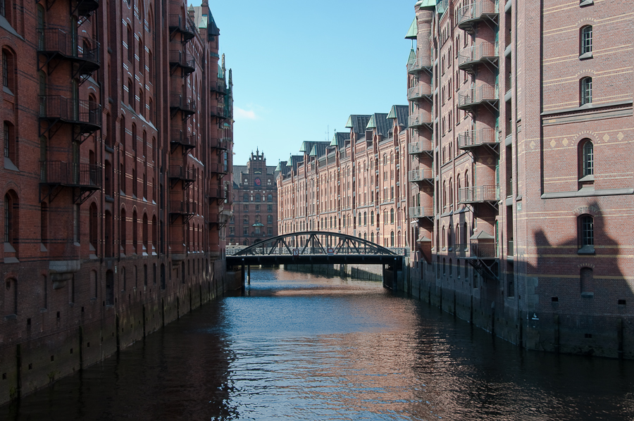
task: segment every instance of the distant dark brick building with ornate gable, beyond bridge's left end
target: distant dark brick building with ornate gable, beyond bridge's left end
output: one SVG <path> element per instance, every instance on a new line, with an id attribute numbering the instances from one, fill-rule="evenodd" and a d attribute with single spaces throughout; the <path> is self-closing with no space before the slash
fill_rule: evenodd
<path id="1" fill-rule="evenodd" d="M 278 173 L 264 153 L 251 152 L 247 165 L 233 166 L 233 205 L 228 242 L 250 246 L 278 235 Z"/>

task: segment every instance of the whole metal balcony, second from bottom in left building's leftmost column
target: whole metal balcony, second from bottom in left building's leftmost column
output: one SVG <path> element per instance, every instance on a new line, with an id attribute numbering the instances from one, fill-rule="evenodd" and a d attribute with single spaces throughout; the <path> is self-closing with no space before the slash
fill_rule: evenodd
<path id="1" fill-rule="evenodd" d="M 57 123 L 74 125 L 75 135 L 88 136 L 101 128 L 101 106 L 84 99 L 68 99 L 61 95 L 40 95 L 39 119 L 48 124 L 40 136 L 51 130 Z"/>

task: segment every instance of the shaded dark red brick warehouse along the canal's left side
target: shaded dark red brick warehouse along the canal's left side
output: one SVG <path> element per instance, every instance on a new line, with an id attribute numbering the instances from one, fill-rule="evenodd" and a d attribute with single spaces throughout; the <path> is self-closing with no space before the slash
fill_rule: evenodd
<path id="1" fill-rule="evenodd" d="M 0 402 L 214 296 L 232 173 L 206 2 L 3 6 Z"/>

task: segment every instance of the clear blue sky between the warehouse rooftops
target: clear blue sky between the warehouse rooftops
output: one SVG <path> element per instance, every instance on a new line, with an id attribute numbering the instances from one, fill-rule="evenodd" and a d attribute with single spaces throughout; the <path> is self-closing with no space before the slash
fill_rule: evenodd
<path id="1" fill-rule="evenodd" d="M 200 0 L 194 0 L 199 6 Z M 233 71 L 234 163 L 277 165 L 350 114 L 406 105 L 416 0 L 209 1 Z"/>

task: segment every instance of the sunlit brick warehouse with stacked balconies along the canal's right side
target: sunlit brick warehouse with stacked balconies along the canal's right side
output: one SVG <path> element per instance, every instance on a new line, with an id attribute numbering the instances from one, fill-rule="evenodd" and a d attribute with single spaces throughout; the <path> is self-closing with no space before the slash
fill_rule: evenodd
<path id="1" fill-rule="evenodd" d="M 630 3 L 415 9 L 413 293 L 526 348 L 633 358 Z"/>

